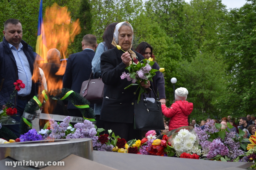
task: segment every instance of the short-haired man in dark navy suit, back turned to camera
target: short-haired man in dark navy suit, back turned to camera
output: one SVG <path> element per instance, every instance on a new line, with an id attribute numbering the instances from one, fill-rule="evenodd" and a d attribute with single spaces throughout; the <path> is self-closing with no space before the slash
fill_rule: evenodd
<path id="1" fill-rule="evenodd" d="M 97 38 L 86 34 L 82 41 L 83 51 L 71 54 L 68 57 L 66 71 L 63 77 L 63 87 L 80 93 L 82 83 L 90 78 L 92 72 L 92 59 L 97 48 Z M 82 117 L 81 112 L 69 101 L 70 116 Z"/>

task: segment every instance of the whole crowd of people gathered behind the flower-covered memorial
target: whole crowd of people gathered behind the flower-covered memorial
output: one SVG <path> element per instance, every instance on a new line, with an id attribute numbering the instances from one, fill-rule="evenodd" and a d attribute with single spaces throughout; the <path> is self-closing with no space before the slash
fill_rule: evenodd
<path id="1" fill-rule="evenodd" d="M 2 109 L 6 107 L 5 104 L 13 92 L 13 83 L 18 79 L 23 81 L 26 88 L 17 92 L 11 102 L 13 103 L 12 107 L 17 108 L 17 115 L 22 116 L 28 101 L 34 95 L 40 94 L 42 90 L 47 89 L 51 92 L 56 89 L 54 85 L 61 82 L 61 86 L 58 88 L 69 88 L 79 93 L 82 83 L 88 80 L 92 73 L 93 78 L 102 77 L 104 83 L 103 102 L 90 105 L 90 107 L 94 107 L 98 128 L 112 129 L 126 141 L 141 138 L 141 131 L 134 129 L 133 126 L 134 104 L 138 97 L 137 87 L 124 89 L 131 82 L 121 79 L 120 76 L 132 62 L 137 63 L 143 59 L 149 59 L 149 57 L 155 60 L 155 55 L 153 55 L 153 48 L 147 42 L 141 42 L 136 50 L 133 49 L 133 27 L 129 22 L 109 24 L 103 34 L 103 42 L 99 45 L 95 35 L 84 35 L 81 42 L 82 51 L 69 55 L 63 74 L 60 74 L 62 67 L 60 51 L 56 48 L 49 49 L 48 63 L 36 62 L 33 50 L 22 40 L 22 26 L 18 19 L 6 20 L 3 33 L 4 38 L 0 43 L 0 104 Z M 122 50 L 119 50 L 117 45 Z M 155 62 L 152 68 L 159 70 L 160 67 Z M 37 79 L 33 78 L 32 80 L 32 76 Z M 159 131 L 159 138 L 167 134 L 168 131 L 182 126 L 190 125 L 203 129 L 205 123 L 210 120 L 210 118 L 206 121 L 202 120 L 198 122 L 199 124 L 196 123 L 196 120 L 188 123 L 188 116 L 193 111 L 193 103 L 187 101 L 188 90 L 184 87 L 175 90 L 175 102 L 171 107 L 167 107 L 162 72 L 156 72 L 153 82 L 141 82 L 141 86 L 148 91 L 146 97 L 155 96 L 152 90 L 158 94 L 156 97 L 162 104 L 163 115 L 170 118 L 168 122 L 164 120 L 165 129 Z M 80 111 L 71 102 L 68 102 L 66 107 L 62 101 L 58 100 L 50 100 L 49 103 L 54 106 L 54 109 L 48 110 L 45 107 L 42 113 L 82 117 Z M 19 116 L 15 116 L 14 119 L 20 121 Z M 215 120 L 215 123 L 221 123 L 226 127 L 229 122 L 234 126 L 229 130 L 238 132 L 238 128 L 240 128 L 245 131 L 246 135 L 244 136 L 249 137 L 255 135 L 254 120 L 254 116 L 247 115 L 247 117 L 241 117 L 239 126 L 236 126 L 231 116 L 228 116 L 227 118 L 223 117 L 221 121 Z M 6 127 L 18 137 L 20 136 L 19 125 Z"/>

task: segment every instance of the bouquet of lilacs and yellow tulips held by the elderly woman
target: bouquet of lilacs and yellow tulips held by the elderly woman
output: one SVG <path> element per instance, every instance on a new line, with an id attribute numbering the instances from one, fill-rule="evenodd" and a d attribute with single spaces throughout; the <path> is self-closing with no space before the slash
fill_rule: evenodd
<path id="1" fill-rule="evenodd" d="M 138 103 L 140 101 L 140 95 L 141 93 L 145 92 L 147 93 L 147 90 L 141 86 L 141 82 L 144 81 L 144 84 L 148 83 L 149 81 L 152 81 L 152 78 L 156 75 L 156 71 L 164 71 L 164 68 L 160 68 L 159 70 L 152 69 L 152 65 L 155 62 L 153 62 L 153 59 L 150 57 L 149 59 L 144 59 L 141 62 L 134 63 L 125 69 L 128 70 L 127 72 L 123 72 L 123 74 L 120 76 L 121 79 L 127 79 L 128 81 L 132 81 L 131 85 L 128 85 L 124 89 L 127 89 L 131 87 L 132 85 L 138 85 L 138 88 L 136 92 L 139 90 L 139 96 L 138 96 Z"/>

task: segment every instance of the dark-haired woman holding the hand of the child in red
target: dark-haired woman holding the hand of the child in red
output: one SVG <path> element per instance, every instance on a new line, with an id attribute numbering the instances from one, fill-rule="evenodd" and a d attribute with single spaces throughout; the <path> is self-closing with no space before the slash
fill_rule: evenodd
<path id="1" fill-rule="evenodd" d="M 144 58 L 148 59 L 151 57 L 153 60 L 155 60 L 155 55 L 153 55 L 153 48 L 151 45 L 149 45 L 147 42 L 141 42 L 138 47 L 136 48 L 136 51 L 144 56 Z M 155 62 L 152 66 L 153 69 L 159 70 L 159 65 Z M 164 88 L 164 75 L 162 72 L 157 71 L 156 75 L 152 78 L 153 82 L 150 86 L 150 88 L 154 89 L 154 91 L 159 92 L 159 99 L 162 104 L 165 104 L 165 88 Z M 154 97 L 154 92 L 151 91 L 146 97 Z"/>

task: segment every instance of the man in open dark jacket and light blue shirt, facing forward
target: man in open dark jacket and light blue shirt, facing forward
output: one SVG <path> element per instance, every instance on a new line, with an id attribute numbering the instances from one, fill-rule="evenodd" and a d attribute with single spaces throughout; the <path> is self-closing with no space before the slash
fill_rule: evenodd
<path id="1" fill-rule="evenodd" d="M 28 101 L 41 91 L 42 78 L 38 67 L 34 67 L 33 51 L 28 48 L 28 44 L 22 40 L 22 26 L 18 19 L 7 19 L 4 23 L 4 38 L 0 42 L 0 109 L 4 109 L 5 104 L 14 90 L 13 83 L 20 79 L 25 84 L 25 88 L 15 94 L 12 99 L 13 107 L 17 108 L 17 115 L 13 119 L 20 122 L 24 108 Z M 34 75 L 33 75 L 34 74 Z M 36 83 L 32 80 L 36 77 Z M 7 125 L 18 137 L 19 125 Z"/>

